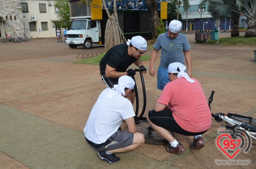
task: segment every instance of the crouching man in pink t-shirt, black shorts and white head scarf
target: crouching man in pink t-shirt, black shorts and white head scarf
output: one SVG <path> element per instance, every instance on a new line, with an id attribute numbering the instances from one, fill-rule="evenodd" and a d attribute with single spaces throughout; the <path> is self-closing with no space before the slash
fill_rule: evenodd
<path id="1" fill-rule="evenodd" d="M 166 151 L 171 154 L 181 154 L 185 148 L 170 131 L 194 136 L 190 149 L 201 149 L 205 146 L 202 134 L 211 126 L 211 112 L 202 86 L 185 70 L 178 62 L 169 65 L 170 82 L 163 88 L 154 110 L 147 115 L 150 126 L 170 142 Z"/>

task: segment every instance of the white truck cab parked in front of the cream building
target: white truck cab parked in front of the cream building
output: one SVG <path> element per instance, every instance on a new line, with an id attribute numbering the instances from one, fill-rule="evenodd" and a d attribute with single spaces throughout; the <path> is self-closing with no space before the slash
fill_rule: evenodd
<path id="1" fill-rule="evenodd" d="M 90 18 L 74 19 L 71 23 L 71 29 L 67 31 L 66 43 L 70 48 L 83 46 L 90 49 L 93 43 L 99 42 L 99 20 Z"/>

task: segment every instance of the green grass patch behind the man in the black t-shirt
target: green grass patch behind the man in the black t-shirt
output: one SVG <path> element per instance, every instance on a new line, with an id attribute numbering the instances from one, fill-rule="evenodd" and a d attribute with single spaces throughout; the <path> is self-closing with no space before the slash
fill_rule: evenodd
<path id="1" fill-rule="evenodd" d="M 85 58 L 85 59 L 75 61 L 74 63 L 75 64 L 99 65 L 99 62 L 101 61 L 101 59 L 104 55 L 105 55 L 105 53 L 101 53 L 100 55 L 97 55 L 97 56 L 88 57 L 88 58 Z M 143 55 L 140 58 L 141 58 L 141 61 L 149 60 L 150 55 Z"/>

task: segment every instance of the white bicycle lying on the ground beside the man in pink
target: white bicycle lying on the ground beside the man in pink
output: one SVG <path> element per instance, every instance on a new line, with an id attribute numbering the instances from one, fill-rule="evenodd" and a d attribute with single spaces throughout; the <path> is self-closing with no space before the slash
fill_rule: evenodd
<path id="1" fill-rule="evenodd" d="M 214 92 L 215 92 L 214 90 L 211 92 L 211 96 L 208 100 L 209 101 L 208 105 L 209 105 L 210 110 L 211 110 L 210 104 L 213 101 Z M 227 113 L 227 114 L 211 113 L 211 116 L 214 117 L 216 122 L 225 121 L 225 123 L 228 124 L 228 125 L 226 125 L 226 128 L 231 129 L 231 131 L 232 130 L 234 131 L 234 133 L 231 134 L 231 136 L 236 138 L 238 136 L 237 131 L 240 131 L 240 133 L 243 136 L 247 135 L 247 137 L 256 139 L 256 119 L 253 119 L 252 117 L 249 117 L 249 116 L 233 114 L 233 113 Z"/>

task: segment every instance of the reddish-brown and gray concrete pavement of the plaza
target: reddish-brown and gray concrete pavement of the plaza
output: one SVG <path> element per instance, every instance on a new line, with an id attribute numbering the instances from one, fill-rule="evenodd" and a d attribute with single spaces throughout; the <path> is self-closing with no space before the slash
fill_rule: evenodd
<path id="1" fill-rule="evenodd" d="M 186 34 L 191 45 L 193 77 L 206 97 L 215 90 L 212 112 L 234 112 L 256 118 L 256 62 L 254 46 L 195 44 L 194 33 Z M 230 37 L 221 32 L 220 38 Z M 71 49 L 55 39 L 0 45 L 0 166 L 1 168 L 245 168 L 255 166 L 255 140 L 230 160 L 218 147 L 219 129 L 212 122 L 203 138 L 206 146 L 190 150 L 193 137 L 175 135 L 186 151 L 172 155 L 165 146 L 144 144 L 119 153 L 121 161 L 108 164 L 85 141 L 83 128 L 101 91 L 105 88 L 98 65 L 73 64 L 78 53 L 103 51 Z M 147 55 L 152 50 L 147 50 Z M 155 61 L 155 70 L 160 52 Z M 149 70 L 149 60 L 143 61 Z M 139 76 L 135 77 L 137 82 Z M 156 77 L 144 77 L 146 113 L 154 108 L 161 91 Z M 139 93 L 141 94 L 141 93 Z M 141 107 L 141 106 L 140 106 Z M 146 114 L 145 113 L 145 114 Z M 145 116 L 145 115 L 144 115 Z M 224 127 L 225 128 L 225 127 Z M 125 130 L 125 124 L 122 125 Z M 218 164 L 219 161 L 250 161 L 248 164 Z"/>

